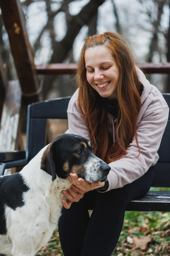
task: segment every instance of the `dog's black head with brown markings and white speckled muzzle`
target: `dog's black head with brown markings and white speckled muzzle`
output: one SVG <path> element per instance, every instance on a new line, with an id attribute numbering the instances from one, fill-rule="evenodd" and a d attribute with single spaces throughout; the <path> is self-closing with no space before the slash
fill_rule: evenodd
<path id="1" fill-rule="evenodd" d="M 70 173 L 76 173 L 87 182 L 104 181 L 110 167 L 96 157 L 93 146 L 84 137 L 72 134 L 63 134 L 55 138 L 46 148 L 41 158 L 41 169 L 63 179 Z"/>

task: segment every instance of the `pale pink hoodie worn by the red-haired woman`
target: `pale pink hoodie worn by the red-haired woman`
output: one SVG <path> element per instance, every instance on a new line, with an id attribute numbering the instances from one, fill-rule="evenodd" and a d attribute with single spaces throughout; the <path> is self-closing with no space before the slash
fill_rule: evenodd
<path id="1" fill-rule="evenodd" d="M 137 138 L 140 147 L 140 155 L 133 138 L 127 149 L 127 155 L 109 166 L 111 171 L 108 175 L 109 188 L 120 188 L 128 183 L 137 180 L 144 175 L 151 165 L 155 165 L 159 159 L 157 150 L 159 149 L 163 132 L 168 121 L 169 108 L 161 92 L 149 83 L 145 75 L 138 69 L 139 79 L 144 87 L 141 95 L 142 107 L 137 116 Z M 78 90 L 73 94 L 68 106 L 68 133 L 81 135 L 89 138 L 89 132 L 83 116 L 81 115 L 78 104 Z M 116 119 L 108 113 L 110 132 L 113 141 L 115 139 Z M 137 157 L 137 158 L 134 158 Z"/>

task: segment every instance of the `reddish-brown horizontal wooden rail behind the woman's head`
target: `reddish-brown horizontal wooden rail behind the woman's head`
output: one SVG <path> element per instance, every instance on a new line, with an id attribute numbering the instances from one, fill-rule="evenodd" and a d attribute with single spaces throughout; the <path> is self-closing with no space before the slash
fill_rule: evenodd
<path id="1" fill-rule="evenodd" d="M 170 63 L 139 63 L 138 67 L 147 74 L 159 73 L 170 74 Z M 47 65 L 36 65 L 37 74 L 72 74 L 76 72 L 76 63 L 52 63 Z"/>

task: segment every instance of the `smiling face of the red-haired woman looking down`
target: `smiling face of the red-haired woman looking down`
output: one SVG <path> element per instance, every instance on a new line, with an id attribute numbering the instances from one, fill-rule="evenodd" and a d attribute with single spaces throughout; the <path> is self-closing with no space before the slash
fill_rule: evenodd
<path id="1" fill-rule="evenodd" d="M 109 48 L 98 45 L 85 51 L 85 67 L 88 83 L 103 98 L 116 99 L 119 72 Z"/>

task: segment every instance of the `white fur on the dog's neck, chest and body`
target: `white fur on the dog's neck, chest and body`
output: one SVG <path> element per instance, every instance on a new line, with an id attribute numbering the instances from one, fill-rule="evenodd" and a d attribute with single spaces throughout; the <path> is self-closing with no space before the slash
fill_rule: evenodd
<path id="1" fill-rule="evenodd" d="M 34 256 L 48 242 L 56 228 L 61 214 L 61 200 L 64 198 L 61 191 L 68 189 L 71 183 L 68 179 L 59 177 L 52 182 L 52 177 L 41 170 L 40 162 L 45 149 L 46 147 L 20 172 L 29 187 L 24 193 L 24 206 L 15 211 L 6 206 L 8 232 L 0 235 L 2 254 Z"/>

